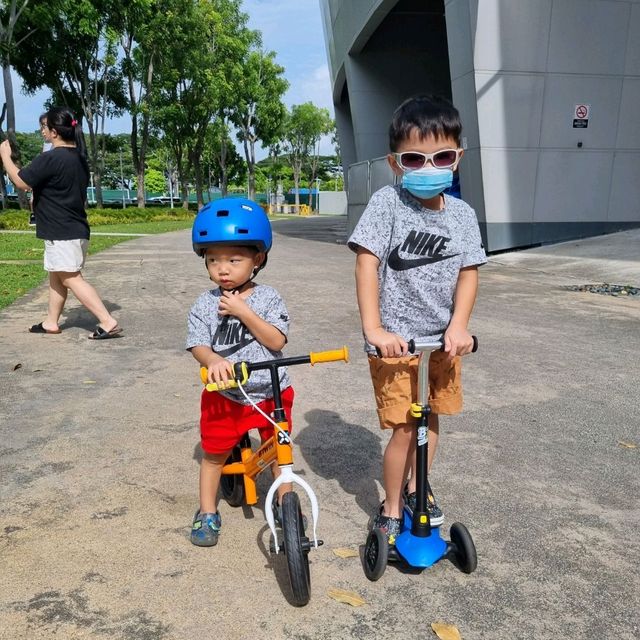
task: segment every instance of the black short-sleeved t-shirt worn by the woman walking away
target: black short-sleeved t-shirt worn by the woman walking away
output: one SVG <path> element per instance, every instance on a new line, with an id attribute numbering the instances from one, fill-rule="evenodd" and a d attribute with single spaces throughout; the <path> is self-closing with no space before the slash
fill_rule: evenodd
<path id="1" fill-rule="evenodd" d="M 84 208 L 89 170 L 75 147 L 54 147 L 41 153 L 18 175 L 33 189 L 38 238 L 89 239 Z"/>

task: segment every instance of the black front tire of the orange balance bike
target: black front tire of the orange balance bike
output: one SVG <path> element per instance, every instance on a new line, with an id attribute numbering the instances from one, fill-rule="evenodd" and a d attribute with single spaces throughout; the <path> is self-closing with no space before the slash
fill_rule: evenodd
<path id="1" fill-rule="evenodd" d="M 300 500 L 293 491 L 285 493 L 282 499 L 282 538 L 293 604 L 303 607 L 311 597 L 309 540 L 305 537 Z"/>

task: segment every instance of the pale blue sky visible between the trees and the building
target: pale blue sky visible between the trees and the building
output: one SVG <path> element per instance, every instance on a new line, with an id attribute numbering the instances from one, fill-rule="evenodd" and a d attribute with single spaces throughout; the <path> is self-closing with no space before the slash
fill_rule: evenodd
<path id="1" fill-rule="evenodd" d="M 276 60 L 285 68 L 289 90 L 284 101 L 287 106 L 313 102 L 325 107 L 333 116 L 331 84 L 318 0 L 244 0 L 243 10 L 249 15 L 249 26 L 262 32 L 263 46 L 276 52 Z M 14 74 L 16 101 L 16 129 L 35 131 L 38 116 L 43 111 L 47 91 L 25 96 L 20 78 Z M 4 88 L 0 83 L 1 97 Z M 106 125 L 108 133 L 130 130 L 128 117 L 112 120 Z M 320 151 L 332 154 L 329 139 L 323 140 Z M 264 153 L 258 153 L 258 158 Z"/>

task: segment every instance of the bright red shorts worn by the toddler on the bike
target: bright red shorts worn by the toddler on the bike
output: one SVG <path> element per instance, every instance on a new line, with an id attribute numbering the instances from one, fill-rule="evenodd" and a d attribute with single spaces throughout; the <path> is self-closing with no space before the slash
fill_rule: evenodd
<path id="1" fill-rule="evenodd" d="M 291 407 L 294 395 L 293 387 L 287 387 L 282 391 L 282 406 L 289 423 L 289 431 L 292 429 Z M 258 402 L 258 406 L 268 416 L 271 416 L 275 409 L 273 398 Z M 259 429 L 261 440 L 273 435 L 273 425 L 252 405 L 234 402 L 221 393 L 204 390 L 200 411 L 200 444 L 206 453 L 219 454 L 231 451 L 249 429 Z"/>

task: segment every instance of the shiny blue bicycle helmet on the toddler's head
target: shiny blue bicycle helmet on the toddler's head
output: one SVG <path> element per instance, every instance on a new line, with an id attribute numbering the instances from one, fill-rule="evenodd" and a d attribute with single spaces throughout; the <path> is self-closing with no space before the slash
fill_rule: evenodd
<path id="1" fill-rule="evenodd" d="M 246 198 L 222 198 L 206 204 L 193 221 L 193 250 L 203 256 L 208 247 L 220 244 L 256 247 L 268 253 L 272 236 L 269 218 L 262 207 Z"/>

